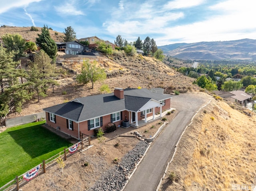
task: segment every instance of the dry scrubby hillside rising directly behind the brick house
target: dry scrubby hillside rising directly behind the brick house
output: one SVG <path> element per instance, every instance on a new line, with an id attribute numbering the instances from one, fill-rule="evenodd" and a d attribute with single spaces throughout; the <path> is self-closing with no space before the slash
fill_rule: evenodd
<path id="1" fill-rule="evenodd" d="M 173 93 L 175 90 L 180 93 L 187 91 L 198 90 L 199 87 L 192 85 L 194 79 L 183 76 L 174 69 L 150 57 L 142 57 L 135 55 L 134 57 L 114 56 L 106 57 L 98 56 L 91 61 L 96 60 L 98 65 L 103 67 L 107 73 L 107 79 L 94 84 L 94 89 L 89 83 L 86 86 L 76 83 L 75 71 L 79 73 L 83 60 L 81 58 L 63 59 L 61 56 L 57 60 L 57 71 L 59 73 L 59 86 L 48 90 L 48 96 L 41 98 L 40 102 L 37 99 L 32 99 L 26 104 L 21 112 L 21 115 L 33 114 L 42 112 L 42 108 L 60 104 L 77 97 L 101 94 L 100 87 L 107 84 L 110 91 L 113 92 L 115 87 L 120 88 L 154 88 L 162 87 L 165 93 Z M 22 67 L 25 67 L 26 61 L 22 61 Z M 9 117 L 20 116 L 20 114 L 11 114 Z"/>

